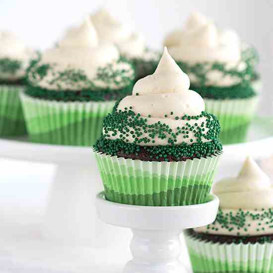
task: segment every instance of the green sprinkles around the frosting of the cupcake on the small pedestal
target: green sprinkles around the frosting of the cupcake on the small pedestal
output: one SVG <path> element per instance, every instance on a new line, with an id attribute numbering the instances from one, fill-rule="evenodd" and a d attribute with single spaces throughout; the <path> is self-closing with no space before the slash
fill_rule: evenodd
<path id="1" fill-rule="evenodd" d="M 191 116 L 193 120 L 199 120 L 201 117 L 206 118 L 205 127 L 207 132 L 204 133 L 201 128 L 195 125 L 186 123 L 184 126 L 186 130 L 173 132 L 173 130 L 160 121 L 154 124 L 148 124 L 147 119 L 141 117 L 139 113 L 132 110 L 118 110 L 119 101 L 116 103 L 112 113 L 108 114 L 104 119 L 104 135 L 102 135 L 96 142 L 95 149 L 103 151 L 107 154 L 118 155 L 119 152 L 124 154 L 134 154 L 140 148 L 146 147 L 146 151 L 157 160 L 166 160 L 166 158 L 174 158 L 180 160 L 181 158 L 200 158 L 205 156 L 215 155 L 222 150 L 222 145 L 218 141 L 220 132 L 220 125 L 217 118 L 206 112 L 202 112 L 200 116 Z M 187 119 L 188 116 L 183 116 Z M 184 122 L 185 123 L 185 122 Z M 187 144 L 183 142 L 176 144 L 177 136 L 182 135 L 184 138 L 189 138 L 188 128 L 196 128 L 196 142 Z M 111 133 L 109 133 L 111 132 Z M 143 135 L 143 132 L 147 132 Z M 124 141 L 123 136 L 131 135 L 134 143 Z M 117 139 L 109 139 L 112 136 L 119 136 Z M 122 137 L 121 137 L 122 136 Z M 166 139 L 168 145 L 145 146 L 147 143 L 155 143 L 155 138 Z M 203 141 L 203 138 L 209 141 Z M 128 139 L 127 139 L 128 140 Z M 191 141 L 192 142 L 192 141 Z"/>

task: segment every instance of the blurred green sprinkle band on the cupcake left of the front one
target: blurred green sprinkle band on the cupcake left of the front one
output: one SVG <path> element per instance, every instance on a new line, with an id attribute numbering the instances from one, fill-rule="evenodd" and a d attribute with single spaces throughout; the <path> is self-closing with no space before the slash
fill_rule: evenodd
<path id="1" fill-rule="evenodd" d="M 126 64 L 126 66 L 124 66 L 124 64 Z M 46 76 L 49 74 L 50 77 L 47 79 Z M 79 101 L 99 101 L 118 99 L 130 94 L 132 92 L 135 74 L 133 67 L 125 62 L 124 59 L 120 59 L 114 64 L 108 64 L 103 68 L 97 68 L 96 75 L 93 78 L 89 78 L 85 70 L 69 67 L 64 70 L 58 70 L 57 64 L 44 64 L 41 63 L 39 59 L 32 61 L 27 76 L 30 87 L 33 87 L 33 89 L 30 88 L 31 91 L 29 91 L 29 95 L 31 96 L 46 99 L 58 98 L 59 100 L 65 101 L 70 101 L 71 99 Z M 46 81 L 43 84 L 46 83 L 49 86 L 53 86 L 53 88 L 49 88 L 48 90 L 41 88 L 41 81 Z M 130 92 L 121 92 L 121 95 L 117 96 L 120 90 L 128 87 L 131 88 Z M 38 90 L 37 95 L 35 95 L 35 89 Z M 79 92 L 77 92 L 77 90 L 79 90 Z M 113 96 L 111 96 L 112 91 L 114 93 Z M 52 92 L 52 94 L 50 92 Z M 63 93 L 57 94 L 56 92 Z M 96 95 L 95 92 L 98 94 Z M 77 99 L 79 95 L 81 96 Z M 71 98 L 73 96 L 74 98 Z"/>

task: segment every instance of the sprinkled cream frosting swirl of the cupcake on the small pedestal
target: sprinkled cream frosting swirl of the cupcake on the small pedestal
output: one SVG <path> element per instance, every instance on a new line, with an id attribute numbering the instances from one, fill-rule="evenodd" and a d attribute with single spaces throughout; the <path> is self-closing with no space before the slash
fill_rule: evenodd
<path id="1" fill-rule="evenodd" d="M 162 151 L 155 159 L 166 161 L 219 152 L 219 122 L 205 112 L 203 98 L 189 86 L 189 77 L 165 48 L 155 72 L 138 80 L 133 94 L 105 118 L 96 149 L 118 154 L 119 149 L 129 153 L 149 146 L 149 153 Z"/>

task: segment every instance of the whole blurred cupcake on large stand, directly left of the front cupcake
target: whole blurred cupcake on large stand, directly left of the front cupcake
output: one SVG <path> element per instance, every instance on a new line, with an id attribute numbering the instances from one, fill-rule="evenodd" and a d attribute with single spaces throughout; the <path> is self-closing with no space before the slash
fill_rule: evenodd
<path id="1" fill-rule="evenodd" d="M 134 69 L 113 44 L 98 43 L 86 19 L 42 53 L 21 95 L 34 142 L 92 145 L 115 101 L 132 93 Z"/>

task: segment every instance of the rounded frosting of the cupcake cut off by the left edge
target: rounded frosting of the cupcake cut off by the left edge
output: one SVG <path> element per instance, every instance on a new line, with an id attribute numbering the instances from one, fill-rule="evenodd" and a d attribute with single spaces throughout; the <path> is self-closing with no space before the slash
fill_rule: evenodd
<path id="1" fill-rule="evenodd" d="M 0 31 L 0 81 L 16 81 L 25 76 L 34 52 L 13 33 Z"/>

